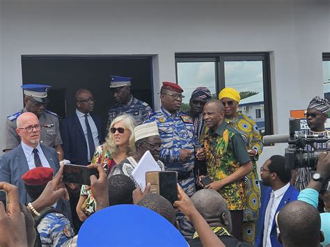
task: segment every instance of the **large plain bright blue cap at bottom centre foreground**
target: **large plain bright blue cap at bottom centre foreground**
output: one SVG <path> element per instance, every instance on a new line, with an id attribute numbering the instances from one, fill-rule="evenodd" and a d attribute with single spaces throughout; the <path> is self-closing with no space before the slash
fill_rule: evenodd
<path id="1" fill-rule="evenodd" d="M 77 245 L 188 246 L 166 218 L 138 205 L 116 205 L 92 214 L 81 225 Z"/>

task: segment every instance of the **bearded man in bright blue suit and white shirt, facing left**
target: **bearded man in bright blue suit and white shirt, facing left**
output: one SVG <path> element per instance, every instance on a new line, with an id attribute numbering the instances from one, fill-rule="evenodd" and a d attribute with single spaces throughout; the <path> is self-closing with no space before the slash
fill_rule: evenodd
<path id="1" fill-rule="evenodd" d="M 275 216 L 289 202 L 297 200 L 299 191 L 290 185 L 291 170 L 285 169 L 285 158 L 273 155 L 260 168 L 262 184 L 270 186 L 265 192 L 261 209 L 261 230 L 256 246 L 282 246 L 277 241 Z"/>

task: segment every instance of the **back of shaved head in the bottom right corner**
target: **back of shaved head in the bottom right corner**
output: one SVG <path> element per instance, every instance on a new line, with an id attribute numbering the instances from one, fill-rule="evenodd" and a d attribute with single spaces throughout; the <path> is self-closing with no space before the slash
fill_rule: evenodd
<path id="1" fill-rule="evenodd" d="M 278 213 L 277 223 L 283 246 L 320 246 L 321 218 L 310 204 L 290 202 Z"/>

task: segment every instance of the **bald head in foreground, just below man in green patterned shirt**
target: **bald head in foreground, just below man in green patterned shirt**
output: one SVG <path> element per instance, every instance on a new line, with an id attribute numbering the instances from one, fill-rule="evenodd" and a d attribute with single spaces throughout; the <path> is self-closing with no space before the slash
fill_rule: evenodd
<path id="1" fill-rule="evenodd" d="M 219 192 L 214 189 L 201 189 L 191 196 L 191 201 L 210 226 L 224 226 L 231 232 L 230 212 Z"/>

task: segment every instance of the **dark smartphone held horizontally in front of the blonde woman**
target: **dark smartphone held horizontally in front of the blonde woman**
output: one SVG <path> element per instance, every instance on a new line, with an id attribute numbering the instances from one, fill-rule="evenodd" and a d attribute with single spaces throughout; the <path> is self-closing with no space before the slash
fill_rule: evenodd
<path id="1" fill-rule="evenodd" d="M 63 166 L 64 183 L 91 185 L 91 175 L 95 175 L 97 178 L 99 177 L 97 168 L 72 164 Z"/>

